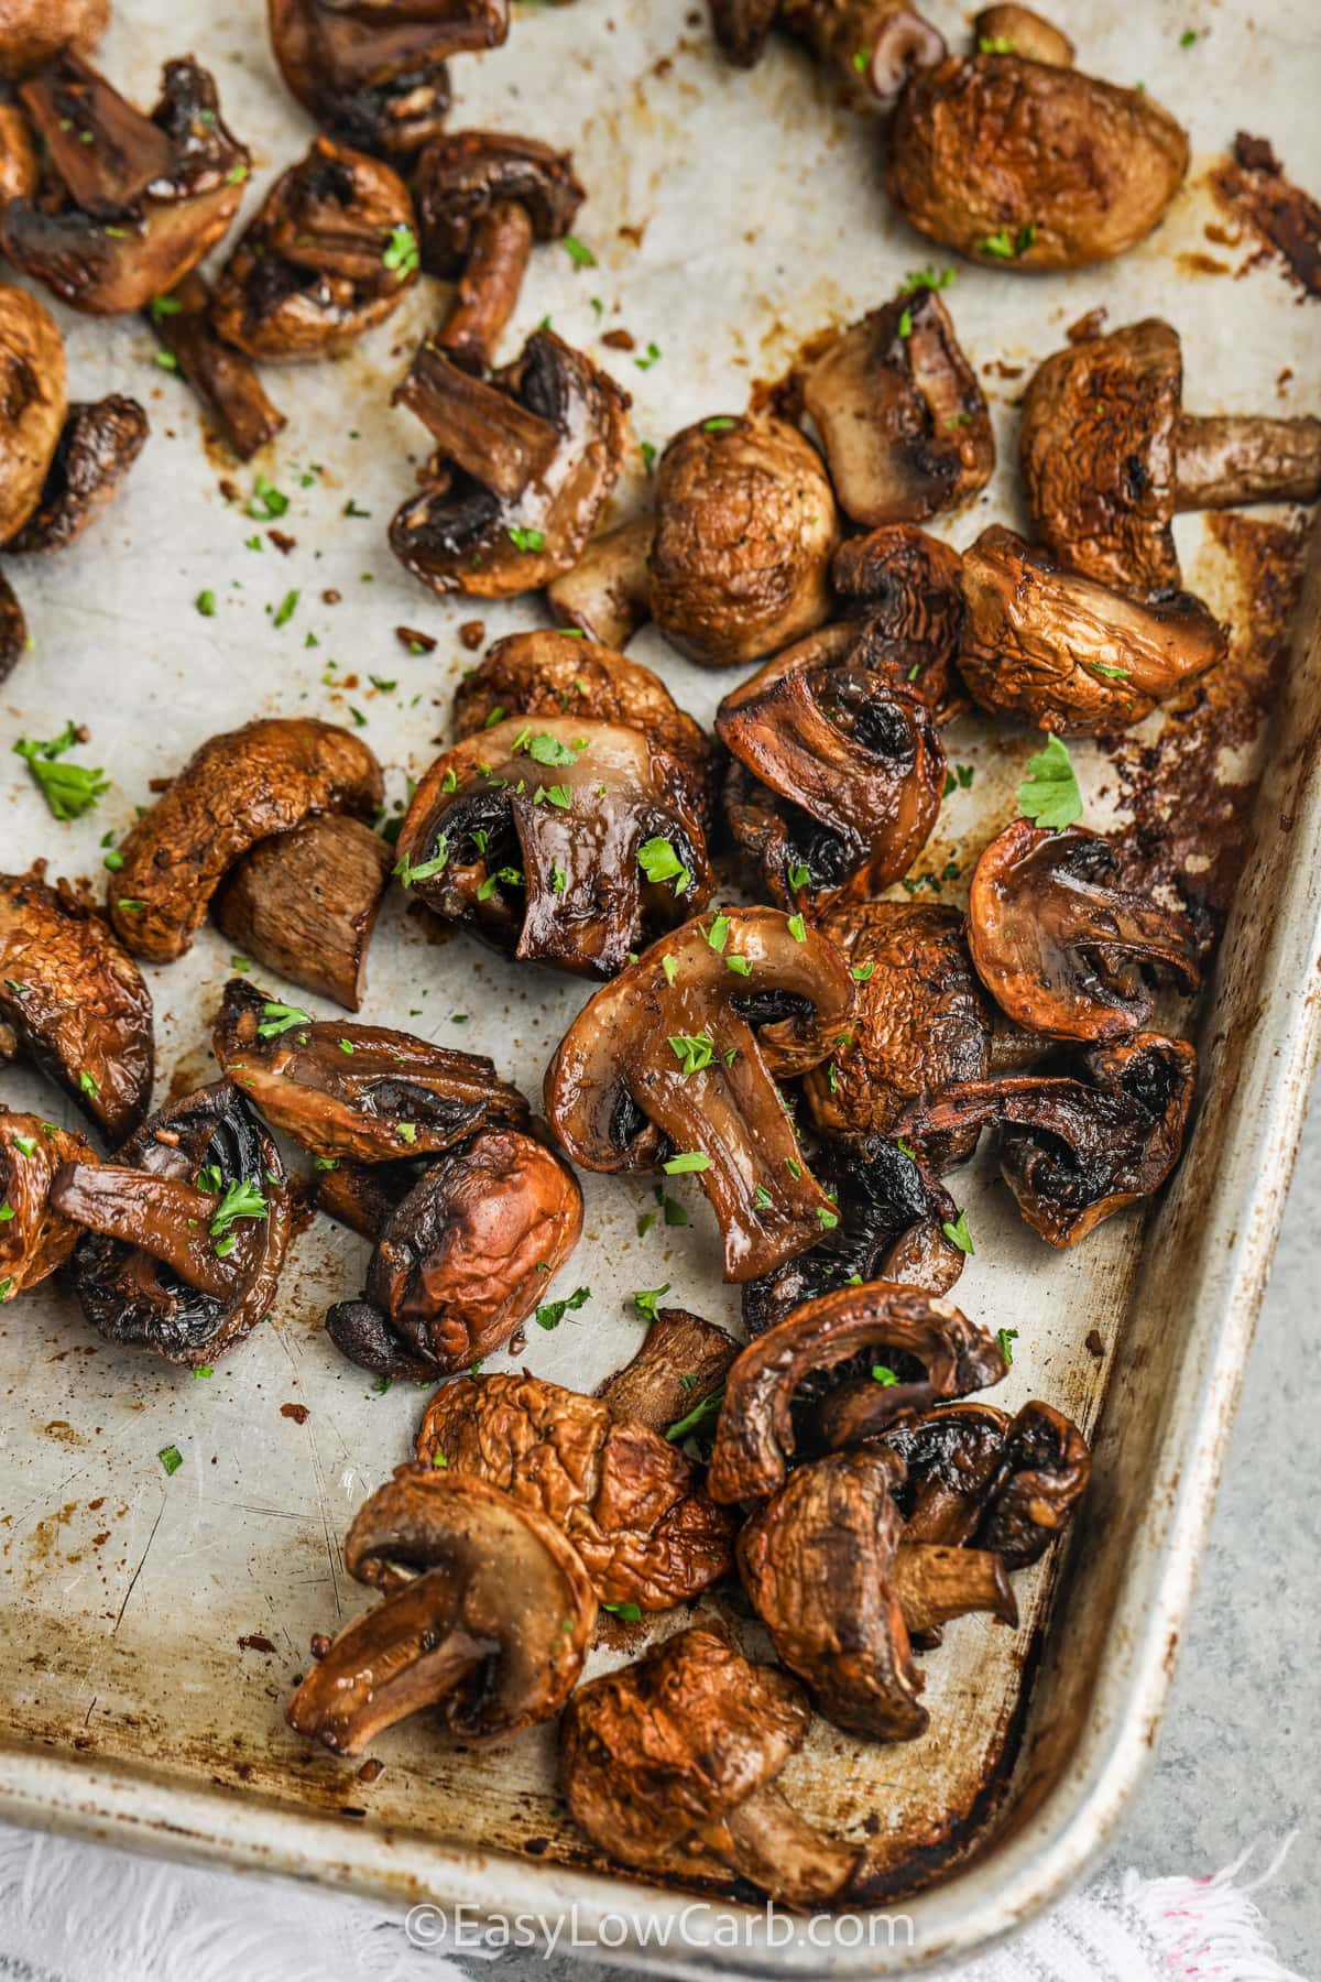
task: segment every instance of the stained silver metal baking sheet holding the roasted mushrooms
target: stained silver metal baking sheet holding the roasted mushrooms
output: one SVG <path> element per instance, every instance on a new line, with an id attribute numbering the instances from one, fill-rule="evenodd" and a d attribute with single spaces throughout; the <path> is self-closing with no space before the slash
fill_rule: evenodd
<path id="1" fill-rule="evenodd" d="M 1264 0 L 1252 18 L 1230 6 L 1194 16 L 1103 0 L 1056 12 L 1083 65 L 1145 81 L 1190 125 L 1194 165 L 1161 232 L 1115 266 L 1032 279 L 959 266 L 949 303 L 992 400 L 1002 466 L 978 505 L 949 523 L 957 545 L 992 517 L 1016 517 L 1012 402 L 1030 367 L 1097 305 L 1111 325 L 1147 313 L 1176 323 L 1198 410 L 1303 410 L 1321 396 L 1311 309 L 1275 266 L 1254 260 L 1256 242 L 1234 238 L 1206 188 L 1210 161 L 1244 121 L 1273 141 L 1291 176 L 1321 184 L 1321 127 L 1305 87 L 1317 54 L 1311 10 Z M 186 48 L 216 69 L 226 115 L 259 161 L 246 212 L 311 135 L 279 85 L 261 16 L 255 0 L 125 0 L 103 48 L 107 71 L 143 101 L 160 61 Z M 933 18 L 957 44 L 965 22 L 945 6 Z M 1200 30 L 1190 48 L 1180 44 L 1188 26 Z M 697 6 L 515 4 L 507 48 L 457 61 L 454 81 L 454 127 L 515 127 L 574 147 L 590 188 L 578 234 L 596 266 L 539 250 L 509 349 L 549 313 L 632 390 L 640 440 L 660 446 L 691 418 L 745 406 L 804 341 L 933 260 L 885 204 L 875 123 L 842 109 L 788 46 L 751 75 L 721 67 Z M 51 874 L 99 884 L 101 834 L 129 826 L 151 779 L 261 714 L 349 721 L 356 710 L 400 799 L 406 775 L 448 735 L 450 694 L 471 664 L 459 624 L 481 618 L 493 638 L 539 622 L 535 601 L 440 605 L 384 543 L 426 452 L 388 394 L 442 301 L 424 283 L 341 361 L 271 369 L 289 426 L 242 472 L 208 446 L 186 390 L 152 363 L 149 329 L 61 317 L 73 396 L 137 392 L 152 438 L 127 494 L 71 553 L 8 565 L 34 650 L 0 690 L 4 731 L 53 735 L 65 717 L 85 721 L 91 743 L 79 755 L 103 765 L 113 789 L 91 817 L 55 825 L 2 751 L 6 868 L 46 856 Z M 654 363 L 602 347 L 616 327 L 634 335 L 638 357 L 654 345 Z M 291 497 L 287 553 L 232 496 L 246 497 L 257 472 Z M 638 460 L 622 507 L 642 484 Z M 254 535 L 261 549 L 248 547 Z M 311 1633 L 364 1601 L 341 1566 L 343 1530 L 408 1455 L 422 1407 L 408 1385 L 374 1393 L 331 1350 L 325 1308 L 358 1288 L 366 1249 L 327 1221 L 297 1239 L 269 1326 L 210 1381 L 111 1348 L 61 1292 L 2 1310 L 6 1816 L 400 1901 L 461 1901 L 479 1915 L 572 1905 L 586 1942 L 608 1917 L 620 1923 L 616 1958 L 669 1972 L 909 1972 L 1012 1930 L 1083 1871 L 1137 1780 L 1169 1687 L 1317 1050 L 1321 567 L 1285 660 L 1301 535 L 1258 513 L 1244 529 L 1180 519 L 1178 537 L 1188 581 L 1238 632 L 1226 682 L 1242 719 L 1188 731 L 1206 759 L 1194 759 L 1194 781 L 1204 797 L 1220 779 L 1220 811 L 1252 834 L 1252 886 L 1240 888 L 1196 1019 L 1204 1058 L 1190 1154 L 1155 1219 L 1117 1219 L 1067 1255 L 1020 1225 L 984 1163 L 957 1183 L 976 1241 L 957 1298 L 978 1322 L 1018 1330 L 996 1401 L 1044 1395 L 1097 1429 L 1095 1486 L 1067 1554 L 1018 1580 L 1022 1631 L 965 1619 L 927 1661 L 925 1740 L 864 1748 L 818 1722 L 786 1776 L 810 1816 L 852 1835 L 865 1825 L 895 1865 L 923 1869 L 929 1883 L 901 1901 L 911 1946 L 907 1930 L 893 1946 L 885 1934 L 766 1946 L 757 1913 L 737 1907 L 679 1925 L 689 1893 L 626 1877 L 566 1823 L 551 1728 L 475 1750 L 414 1720 L 378 1742 L 386 1768 L 370 1786 L 285 1728 Z M 204 589 L 216 593 L 214 618 L 194 608 Z M 277 624 L 291 593 L 293 614 Z M 400 624 L 434 634 L 436 652 L 406 652 Z M 632 652 L 711 717 L 729 678 L 687 666 L 652 632 Z M 1169 717 L 1157 716 L 1135 741 L 1157 749 L 1163 735 L 1174 749 Z M 921 872 L 957 864 L 966 876 L 1012 815 L 1034 747 L 988 721 L 957 727 L 951 759 L 976 777 L 947 803 Z M 1139 862 L 1172 844 L 1153 813 L 1161 793 L 1143 783 L 1149 759 L 1131 747 L 1117 761 L 1091 747 L 1075 757 L 1089 821 L 1127 825 Z M 1151 761 L 1165 761 L 1159 749 Z M 1182 769 L 1184 785 L 1170 789 L 1188 789 Z M 1180 852 L 1202 870 L 1230 858 L 1214 811 L 1198 815 L 1192 852 Z M 1214 844 L 1200 846 L 1202 832 Z M 963 878 L 943 882 L 943 898 L 961 900 Z M 214 1076 L 208 1035 L 228 967 L 228 945 L 208 928 L 184 961 L 149 973 L 158 1096 Z M 364 1017 L 487 1050 L 535 1094 L 582 997 L 574 983 L 438 937 L 394 900 L 376 932 Z M 4 1096 L 65 1120 L 26 1074 L 6 1072 Z M 557 1290 L 588 1284 L 590 1304 L 557 1334 L 533 1328 L 521 1362 L 592 1387 L 638 1342 L 628 1294 L 640 1286 L 669 1282 L 677 1302 L 737 1322 L 695 1191 L 675 1185 L 691 1227 L 640 1239 L 650 1187 L 584 1181 L 586 1237 Z M 1089 1332 L 1099 1358 L 1085 1348 Z M 168 1479 L 156 1461 L 164 1445 L 184 1461 Z M 608 1631 L 594 1667 L 636 1649 L 638 1633 Z M 723 1927 L 733 1919 L 749 1923 L 739 1944 Z"/>

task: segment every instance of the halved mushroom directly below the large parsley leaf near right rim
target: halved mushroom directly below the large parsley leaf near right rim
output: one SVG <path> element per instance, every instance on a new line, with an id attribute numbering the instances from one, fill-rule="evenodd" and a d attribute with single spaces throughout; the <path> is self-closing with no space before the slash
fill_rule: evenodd
<path id="1" fill-rule="evenodd" d="M 1099 832 L 1016 819 L 984 848 L 968 894 L 968 947 L 1000 1011 L 1052 1039 L 1127 1039 L 1151 1017 L 1147 973 L 1196 991 L 1188 920 L 1113 886 Z M 966 1078 L 966 1076 L 963 1076 Z"/>

